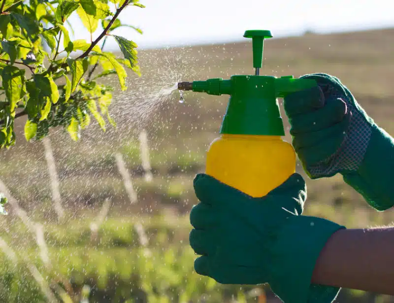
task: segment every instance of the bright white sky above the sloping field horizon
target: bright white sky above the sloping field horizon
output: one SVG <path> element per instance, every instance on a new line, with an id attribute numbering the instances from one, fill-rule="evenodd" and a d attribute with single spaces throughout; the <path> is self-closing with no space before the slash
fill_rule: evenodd
<path id="1" fill-rule="evenodd" d="M 245 39 L 245 30 L 269 30 L 274 37 L 394 28 L 392 0 L 140 0 L 146 8 L 127 7 L 120 20 L 140 28 L 114 34 L 133 40 L 138 47 L 162 48 L 232 42 Z M 74 39 L 90 41 L 76 14 L 70 19 Z M 93 38 L 101 33 L 101 28 Z M 116 50 L 109 38 L 106 50 Z"/>

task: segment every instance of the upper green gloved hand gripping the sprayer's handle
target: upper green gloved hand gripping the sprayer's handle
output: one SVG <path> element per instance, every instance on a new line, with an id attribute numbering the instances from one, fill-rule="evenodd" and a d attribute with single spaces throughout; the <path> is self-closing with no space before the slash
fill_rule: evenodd
<path id="1" fill-rule="evenodd" d="M 317 73 L 318 87 L 289 94 L 284 107 L 293 146 L 312 179 L 343 175 L 377 210 L 394 205 L 394 140 L 367 116 L 336 77 Z"/>

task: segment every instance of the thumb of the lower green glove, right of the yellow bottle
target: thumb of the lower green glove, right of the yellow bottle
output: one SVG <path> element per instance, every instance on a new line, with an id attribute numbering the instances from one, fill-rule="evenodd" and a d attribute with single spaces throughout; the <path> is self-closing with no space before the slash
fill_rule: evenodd
<path id="1" fill-rule="evenodd" d="M 286 198 L 278 199 L 279 196 Z M 273 198 L 265 199 L 266 202 L 275 203 L 291 213 L 300 215 L 306 200 L 305 180 L 300 174 L 293 173 L 283 184 L 270 191 L 266 198 Z"/>

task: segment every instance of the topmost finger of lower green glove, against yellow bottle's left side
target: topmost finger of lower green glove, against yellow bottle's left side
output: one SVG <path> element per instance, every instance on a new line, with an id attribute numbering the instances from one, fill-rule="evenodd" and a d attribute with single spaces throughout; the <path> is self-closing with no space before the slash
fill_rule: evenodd
<path id="1" fill-rule="evenodd" d="M 230 165 L 230 164 L 229 164 Z M 251 197 L 207 174 L 197 174 L 194 190 L 199 201 L 210 205 L 223 205 L 244 201 Z"/>

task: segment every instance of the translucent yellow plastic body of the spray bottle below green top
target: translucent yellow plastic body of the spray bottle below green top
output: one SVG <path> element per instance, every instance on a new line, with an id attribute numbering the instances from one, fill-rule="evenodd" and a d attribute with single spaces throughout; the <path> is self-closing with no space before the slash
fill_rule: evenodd
<path id="1" fill-rule="evenodd" d="M 293 146 L 280 136 L 221 135 L 209 146 L 205 173 L 254 198 L 296 171 Z"/>

